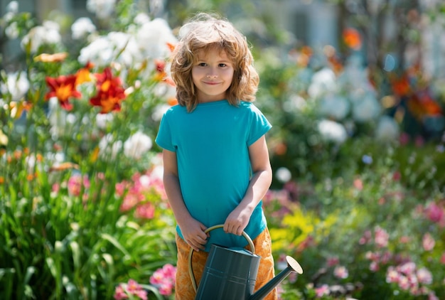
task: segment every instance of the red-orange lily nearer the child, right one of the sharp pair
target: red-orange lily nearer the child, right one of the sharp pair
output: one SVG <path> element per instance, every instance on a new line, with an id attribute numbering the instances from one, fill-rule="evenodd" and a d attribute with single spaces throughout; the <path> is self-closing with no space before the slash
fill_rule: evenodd
<path id="1" fill-rule="evenodd" d="M 110 68 L 103 73 L 96 74 L 97 95 L 90 99 L 91 105 L 102 107 L 100 113 L 107 114 L 121 109 L 121 102 L 125 99 L 125 90 L 119 77 L 113 77 Z"/>

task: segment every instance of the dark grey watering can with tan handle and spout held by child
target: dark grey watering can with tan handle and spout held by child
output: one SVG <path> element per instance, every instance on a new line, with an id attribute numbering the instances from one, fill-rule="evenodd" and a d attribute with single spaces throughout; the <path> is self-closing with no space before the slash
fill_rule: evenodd
<path id="1" fill-rule="evenodd" d="M 222 227 L 224 225 L 208 227 L 205 233 Z M 244 248 L 227 248 L 215 244 L 210 246 L 198 288 L 192 269 L 193 248 L 190 250 L 188 270 L 193 289 L 196 291 L 195 300 L 259 300 L 267 296 L 291 272 L 303 274 L 300 264 L 287 256 L 286 269 L 253 293 L 261 257 L 255 255 L 255 247 L 249 235 L 242 232 L 242 236 L 249 243 L 252 252 Z"/>

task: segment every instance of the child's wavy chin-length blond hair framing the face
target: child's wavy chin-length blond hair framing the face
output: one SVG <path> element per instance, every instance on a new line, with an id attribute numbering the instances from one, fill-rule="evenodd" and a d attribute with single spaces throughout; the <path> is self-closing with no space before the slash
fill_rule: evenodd
<path id="1" fill-rule="evenodd" d="M 253 66 L 253 56 L 245 36 L 229 21 L 218 16 L 200 13 L 179 31 L 179 42 L 171 57 L 171 77 L 176 83 L 179 105 L 192 112 L 198 105 L 191 71 L 198 53 L 210 48 L 223 50 L 232 61 L 234 74 L 227 90 L 227 101 L 239 105 L 240 100 L 253 102 L 259 77 Z"/>

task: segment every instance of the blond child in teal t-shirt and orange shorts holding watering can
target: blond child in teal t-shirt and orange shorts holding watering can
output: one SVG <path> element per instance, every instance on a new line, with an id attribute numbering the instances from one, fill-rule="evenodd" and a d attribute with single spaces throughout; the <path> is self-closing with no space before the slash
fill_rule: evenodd
<path id="1" fill-rule="evenodd" d="M 163 181 L 176 218 L 176 300 L 195 298 L 211 244 L 246 247 L 262 257 L 255 291 L 274 277 L 262 197 L 272 182 L 264 134 L 272 125 L 252 102 L 259 78 L 245 36 L 230 22 L 198 14 L 179 33 L 171 60 L 178 105 L 163 115 Z M 224 224 L 223 229 L 205 230 Z M 274 289 L 265 299 L 277 299 Z"/>

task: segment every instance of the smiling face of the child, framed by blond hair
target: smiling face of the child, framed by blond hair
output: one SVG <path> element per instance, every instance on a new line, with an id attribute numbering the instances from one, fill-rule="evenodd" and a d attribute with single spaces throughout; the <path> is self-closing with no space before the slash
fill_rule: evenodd
<path id="1" fill-rule="evenodd" d="M 198 102 L 225 99 L 226 91 L 232 84 L 233 73 L 233 63 L 227 58 L 225 51 L 211 48 L 198 53 L 198 61 L 192 68 Z"/>

